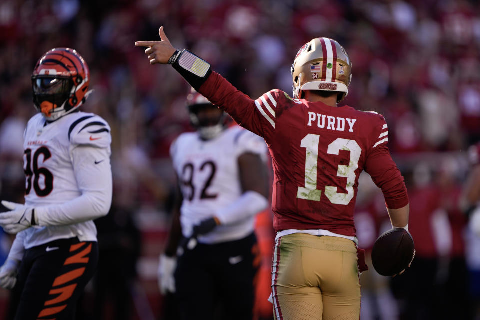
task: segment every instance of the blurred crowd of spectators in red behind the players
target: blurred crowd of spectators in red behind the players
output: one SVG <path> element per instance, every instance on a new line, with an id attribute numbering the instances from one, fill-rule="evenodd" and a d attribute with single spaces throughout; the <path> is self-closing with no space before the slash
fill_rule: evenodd
<path id="1" fill-rule="evenodd" d="M 159 319 L 166 308 L 156 269 L 174 188 L 168 149 L 191 130 L 189 87 L 171 67 L 149 65 L 133 45 L 158 40 L 161 25 L 175 47 L 209 61 L 252 98 L 272 88 L 291 94 L 290 65 L 310 39 L 341 43 L 353 63 L 342 103 L 385 116 L 416 244 L 404 275 L 378 276 L 371 263 L 361 275 L 362 319 L 480 318 L 480 240 L 458 206 L 468 147 L 480 141 L 477 1 L 2 0 L 1 199 L 23 201 L 22 134 L 35 113 L 30 76 L 47 50 L 72 47 L 85 58 L 94 92 L 81 108 L 112 127 L 113 206 L 97 220 L 100 265 L 84 297 L 94 307 L 79 308 L 84 318 Z M 360 190 L 356 223 L 360 246 L 368 249 L 390 226 L 367 175 Z M 271 213 L 265 215 L 260 228 L 270 236 L 268 251 Z M 2 260 L 10 243 L 3 234 Z M 266 297 L 268 290 L 267 283 Z M 3 312 L 6 290 L 0 301 Z M 264 308 L 257 318 L 268 318 Z"/>

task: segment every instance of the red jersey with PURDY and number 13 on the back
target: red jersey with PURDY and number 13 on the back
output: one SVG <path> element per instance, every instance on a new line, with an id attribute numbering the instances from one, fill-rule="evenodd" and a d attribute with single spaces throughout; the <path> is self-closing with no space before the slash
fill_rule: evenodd
<path id="1" fill-rule="evenodd" d="M 257 100 L 212 72 L 199 92 L 263 137 L 273 165 L 273 227 L 355 235 L 358 176 L 368 172 L 387 206 L 408 204 L 403 177 L 386 143 L 382 115 L 293 99 L 271 90 Z"/>

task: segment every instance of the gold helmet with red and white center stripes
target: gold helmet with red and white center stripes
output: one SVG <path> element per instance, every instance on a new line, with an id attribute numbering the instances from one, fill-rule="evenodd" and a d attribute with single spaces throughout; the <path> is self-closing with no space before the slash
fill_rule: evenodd
<path id="1" fill-rule="evenodd" d="M 293 97 L 301 91 L 339 91 L 337 102 L 348 94 L 351 61 L 345 49 L 330 38 L 315 38 L 303 45 L 291 65 Z"/>

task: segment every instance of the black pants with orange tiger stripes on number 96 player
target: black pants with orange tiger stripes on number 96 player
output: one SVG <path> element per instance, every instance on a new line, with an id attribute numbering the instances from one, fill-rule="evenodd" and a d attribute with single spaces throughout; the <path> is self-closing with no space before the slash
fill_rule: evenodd
<path id="1" fill-rule="evenodd" d="M 74 319 L 98 262 L 97 242 L 60 239 L 25 251 L 13 288 L 10 318 Z"/>

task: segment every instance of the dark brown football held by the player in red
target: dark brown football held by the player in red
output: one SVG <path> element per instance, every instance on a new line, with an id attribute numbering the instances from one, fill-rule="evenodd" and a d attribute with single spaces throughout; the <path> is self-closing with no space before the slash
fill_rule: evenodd
<path id="1" fill-rule="evenodd" d="M 393 228 L 381 234 L 371 249 L 371 262 L 378 274 L 392 276 L 408 267 L 415 245 L 410 233 Z"/>

